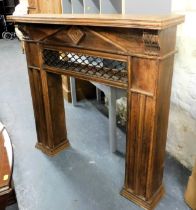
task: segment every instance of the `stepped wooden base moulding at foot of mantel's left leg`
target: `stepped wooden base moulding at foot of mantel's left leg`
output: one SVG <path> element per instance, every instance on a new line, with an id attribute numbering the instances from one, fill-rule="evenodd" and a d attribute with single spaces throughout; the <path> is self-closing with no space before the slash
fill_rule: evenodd
<path id="1" fill-rule="evenodd" d="M 58 147 L 55 148 L 49 148 L 46 147 L 45 145 L 43 145 L 42 143 L 37 143 L 35 145 L 35 147 L 39 150 L 41 150 L 43 153 L 45 153 L 48 156 L 55 156 L 57 155 L 59 152 L 63 151 L 64 149 L 67 149 L 70 147 L 70 143 L 68 140 L 64 141 L 63 143 L 61 143 Z"/>

